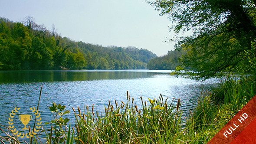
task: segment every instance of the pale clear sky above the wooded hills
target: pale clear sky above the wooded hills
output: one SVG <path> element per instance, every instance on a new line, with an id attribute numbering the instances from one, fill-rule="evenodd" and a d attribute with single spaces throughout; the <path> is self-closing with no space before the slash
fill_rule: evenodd
<path id="1" fill-rule="evenodd" d="M 174 49 L 171 21 L 144 0 L 0 0 L 0 16 L 37 24 L 62 37 L 102 46 L 135 46 L 157 56 Z"/>

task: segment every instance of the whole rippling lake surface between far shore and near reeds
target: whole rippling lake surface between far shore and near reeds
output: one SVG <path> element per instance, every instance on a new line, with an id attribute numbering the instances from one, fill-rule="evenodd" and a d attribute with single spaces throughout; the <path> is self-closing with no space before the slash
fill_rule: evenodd
<path id="1" fill-rule="evenodd" d="M 129 91 L 135 104 L 157 98 L 160 94 L 169 100 L 181 98 L 184 111 L 193 109 L 203 89 L 210 90 L 219 80 L 196 81 L 175 78 L 167 70 L 86 70 L 86 71 L 0 71 L 0 124 L 9 125 L 11 111 L 20 108 L 19 114 L 31 113 L 29 108 L 37 107 L 40 88 L 43 87 L 39 104 L 42 122 L 52 120 L 48 107 L 53 102 L 66 105 L 71 113 L 64 118 L 74 124 L 72 107 L 92 106 L 99 111 L 111 102 L 126 101 Z M 15 127 L 24 127 L 18 116 Z M 30 122 L 28 125 L 33 125 Z"/>

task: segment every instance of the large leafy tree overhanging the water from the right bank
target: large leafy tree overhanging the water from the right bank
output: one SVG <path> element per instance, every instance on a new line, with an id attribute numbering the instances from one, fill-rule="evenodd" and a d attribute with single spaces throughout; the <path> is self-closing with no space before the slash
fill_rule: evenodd
<path id="1" fill-rule="evenodd" d="M 148 2 L 167 14 L 174 23 L 175 33 L 192 31 L 191 36 L 178 38 L 176 49 L 186 49 L 182 58 L 197 73 L 196 78 L 207 79 L 225 72 L 239 70 L 256 56 L 252 49 L 256 36 L 256 0 L 156 0 Z M 250 67 L 247 72 L 255 71 Z"/>

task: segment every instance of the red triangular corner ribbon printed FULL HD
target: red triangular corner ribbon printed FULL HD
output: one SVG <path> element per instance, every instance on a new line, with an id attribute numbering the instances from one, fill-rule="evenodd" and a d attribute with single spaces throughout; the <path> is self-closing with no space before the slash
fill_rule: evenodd
<path id="1" fill-rule="evenodd" d="M 207 144 L 256 144 L 256 95 Z"/>

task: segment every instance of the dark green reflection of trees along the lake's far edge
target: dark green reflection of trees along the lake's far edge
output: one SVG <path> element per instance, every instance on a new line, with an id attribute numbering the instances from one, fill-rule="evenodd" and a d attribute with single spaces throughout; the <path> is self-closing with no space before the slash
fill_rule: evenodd
<path id="1" fill-rule="evenodd" d="M 141 71 L 7 71 L 0 72 L 0 83 L 87 81 L 100 79 L 139 79 L 152 74 Z"/>

